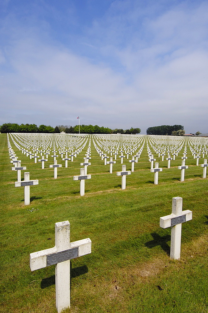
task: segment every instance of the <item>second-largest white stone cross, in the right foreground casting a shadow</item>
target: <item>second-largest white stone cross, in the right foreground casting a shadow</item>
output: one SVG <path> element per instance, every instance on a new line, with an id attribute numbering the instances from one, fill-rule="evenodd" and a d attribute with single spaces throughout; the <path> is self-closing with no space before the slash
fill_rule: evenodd
<path id="1" fill-rule="evenodd" d="M 183 208 L 183 198 L 172 198 L 172 214 L 160 218 L 160 227 L 171 226 L 170 259 L 180 259 L 181 223 L 192 219 L 192 211 Z"/>

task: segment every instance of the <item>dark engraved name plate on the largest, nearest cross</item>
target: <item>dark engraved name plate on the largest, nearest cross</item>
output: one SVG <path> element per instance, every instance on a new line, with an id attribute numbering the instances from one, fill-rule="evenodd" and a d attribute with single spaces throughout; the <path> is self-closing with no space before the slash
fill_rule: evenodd
<path id="1" fill-rule="evenodd" d="M 79 247 L 47 255 L 47 266 L 78 257 Z"/>

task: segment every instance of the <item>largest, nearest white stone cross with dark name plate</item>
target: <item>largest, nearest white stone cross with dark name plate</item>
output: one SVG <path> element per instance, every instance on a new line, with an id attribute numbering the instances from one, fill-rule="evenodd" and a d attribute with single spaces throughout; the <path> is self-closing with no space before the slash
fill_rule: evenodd
<path id="1" fill-rule="evenodd" d="M 89 238 L 70 243 L 69 221 L 55 223 L 55 247 L 30 254 L 30 269 L 57 264 L 56 308 L 58 313 L 70 308 L 70 260 L 91 253 Z"/>

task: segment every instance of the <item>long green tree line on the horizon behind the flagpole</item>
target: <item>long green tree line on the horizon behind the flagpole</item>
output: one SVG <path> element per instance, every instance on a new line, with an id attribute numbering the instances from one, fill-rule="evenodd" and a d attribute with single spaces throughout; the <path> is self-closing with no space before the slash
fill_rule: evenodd
<path id="1" fill-rule="evenodd" d="M 79 133 L 79 125 L 69 126 L 69 125 L 57 125 L 55 128 L 50 125 L 40 125 L 36 124 L 17 124 L 17 123 L 4 123 L 0 126 L 1 133 L 60 133 L 64 131 L 66 134 Z M 130 129 L 110 129 L 109 127 L 98 126 L 98 125 L 80 125 L 81 134 L 139 134 L 140 128 Z"/>

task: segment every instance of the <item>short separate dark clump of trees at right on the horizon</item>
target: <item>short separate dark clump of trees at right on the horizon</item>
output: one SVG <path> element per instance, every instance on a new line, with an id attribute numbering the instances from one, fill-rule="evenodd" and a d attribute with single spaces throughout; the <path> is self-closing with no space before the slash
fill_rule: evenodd
<path id="1" fill-rule="evenodd" d="M 161 125 L 147 128 L 147 135 L 183 136 L 185 134 L 182 125 Z"/>

